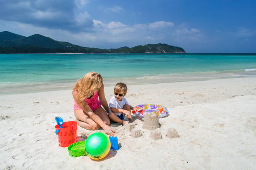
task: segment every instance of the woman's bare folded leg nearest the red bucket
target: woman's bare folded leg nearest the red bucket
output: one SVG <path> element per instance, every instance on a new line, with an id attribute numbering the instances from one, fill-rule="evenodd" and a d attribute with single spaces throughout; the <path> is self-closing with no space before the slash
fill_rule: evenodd
<path id="1" fill-rule="evenodd" d="M 94 122 L 82 109 L 74 110 L 74 115 L 77 117 L 77 124 L 82 128 L 88 130 L 97 130 L 100 128 L 100 126 Z"/>

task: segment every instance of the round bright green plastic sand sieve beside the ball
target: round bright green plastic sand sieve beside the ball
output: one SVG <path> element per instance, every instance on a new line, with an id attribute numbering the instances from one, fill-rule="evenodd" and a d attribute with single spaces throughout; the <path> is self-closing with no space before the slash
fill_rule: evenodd
<path id="1" fill-rule="evenodd" d="M 73 157 L 86 156 L 84 145 L 85 145 L 85 141 L 76 142 L 69 145 L 68 147 L 69 155 Z"/>

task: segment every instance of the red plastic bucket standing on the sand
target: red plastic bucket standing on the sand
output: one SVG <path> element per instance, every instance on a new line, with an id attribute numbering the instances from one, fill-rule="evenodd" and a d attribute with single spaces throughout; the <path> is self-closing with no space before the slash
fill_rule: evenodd
<path id="1" fill-rule="evenodd" d="M 59 130 L 57 133 L 59 145 L 61 147 L 68 147 L 72 143 L 77 142 L 77 122 L 63 122 L 62 127 L 60 128 L 59 125 L 55 126 L 55 130 Z"/>

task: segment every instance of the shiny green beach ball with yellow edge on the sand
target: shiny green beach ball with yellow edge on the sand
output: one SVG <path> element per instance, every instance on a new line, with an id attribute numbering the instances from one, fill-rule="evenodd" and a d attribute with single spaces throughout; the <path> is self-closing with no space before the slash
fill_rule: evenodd
<path id="1" fill-rule="evenodd" d="M 93 133 L 86 140 L 85 152 L 91 159 L 100 160 L 108 155 L 110 147 L 111 144 L 107 135 Z"/>

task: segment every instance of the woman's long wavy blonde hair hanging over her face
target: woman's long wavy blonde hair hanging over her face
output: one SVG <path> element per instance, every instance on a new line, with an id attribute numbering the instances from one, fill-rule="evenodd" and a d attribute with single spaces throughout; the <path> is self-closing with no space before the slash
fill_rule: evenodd
<path id="1" fill-rule="evenodd" d="M 75 84 L 73 91 L 78 91 L 77 102 L 83 102 L 86 98 L 89 98 L 95 91 L 99 91 L 102 85 L 103 79 L 97 72 L 88 72 L 84 77 L 79 79 Z"/>

